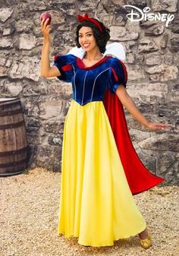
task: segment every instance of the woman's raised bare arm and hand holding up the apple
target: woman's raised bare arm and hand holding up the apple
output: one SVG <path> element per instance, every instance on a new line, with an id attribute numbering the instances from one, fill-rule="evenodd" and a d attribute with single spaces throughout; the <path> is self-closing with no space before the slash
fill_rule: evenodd
<path id="1" fill-rule="evenodd" d="M 50 25 L 47 25 L 48 19 L 41 22 L 41 29 L 43 34 L 43 46 L 41 57 L 41 76 L 42 77 L 58 77 L 61 75 L 57 67 L 50 67 L 49 64 L 49 47 L 50 47 Z"/>

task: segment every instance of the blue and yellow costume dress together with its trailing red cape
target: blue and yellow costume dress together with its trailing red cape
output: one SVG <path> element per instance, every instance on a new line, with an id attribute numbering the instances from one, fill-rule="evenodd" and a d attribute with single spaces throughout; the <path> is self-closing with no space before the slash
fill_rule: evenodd
<path id="1" fill-rule="evenodd" d="M 120 101 L 114 98 L 120 84 L 126 87 L 124 63 L 104 55 L 95 65 L 86 67 L 81 58 L 67 54 L 56 55 L 54 65 L 61 72 L 58 79 L 71 82 L 73 87 L 73 100 L 64 122 L 58 234 L 78 237 L 80 245 L 114 245 L 115 240 L 136 235 L 146 228 L 133 194 L 163 179 L 146 169 L 141 171 L 145 167 L 139 165 L 139 173 L 147 173 L 140 180 L 147 177 L 149 183 L 145 181 L 146 186 L 137 183 L 133 187 L 137 191 L 133 193 L 127 181 L 125 171 L 130 174 L 137 170 L 124 160 L 126 155 L 122 156 L 124 163 L 121 161 L 121 137 L 118 138 L 115 129 L 124 128 L 119 131 L 120 136 L 124 132 L 121 146 L 127 149 L 123 144 L 127 139 L 129 157 L 131 141 L 127 138 Z M 113 106 L 117 109 L 111 109 Z M 123 122 L 121 126 L 114 122 L 116 110 L 122 119 L 115 122 Z"/>

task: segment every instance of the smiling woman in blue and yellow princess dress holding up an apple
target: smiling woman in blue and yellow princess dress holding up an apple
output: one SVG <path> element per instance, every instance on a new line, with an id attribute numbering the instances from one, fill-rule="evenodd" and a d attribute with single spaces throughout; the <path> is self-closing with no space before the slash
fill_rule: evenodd
<path id="1" fill-rule="evenodd" d="M 110 96 L 117 96 L 118 102 L 146 128 L 160 130 L 168 125 L 145 119 L 125 89 L 127 72 L 123 62 L 102 55 L 110 38 L 108 28 L 87 14 L 78 15 L 78 21 L 77 46 L 85 50 L 85 55 L 82 59 L 72 54 L 57 55 L 53 67 L 49 65 L 51 27 L 48 20 L 41 23 L 41 74 L 72 82 L 73 87 L 64 123 L 58 234 L 78 237 L 78 243 L 86 246 L 114 245 L 115 240 L 139 234 L 140 245 L 149 248 L 151 235 L 133 200 L 107 115 L 108 104 L 106 109 L 104 104 L 110 102 Z M 164 180 L 154 176 L 157 181 L 150 188 Z"/>

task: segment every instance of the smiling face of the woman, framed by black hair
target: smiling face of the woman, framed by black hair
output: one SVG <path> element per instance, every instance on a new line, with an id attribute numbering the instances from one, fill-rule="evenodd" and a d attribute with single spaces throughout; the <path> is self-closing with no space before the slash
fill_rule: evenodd
<path id="1" fill-rule="evenodd" d="M 96 39 L 93 36 L 93 30 L 91 27 L 81 27 L 78 34 L 78 41 L 80 46 L 85 49 L 85 51 L 91 51 L 97 46 Z"/>

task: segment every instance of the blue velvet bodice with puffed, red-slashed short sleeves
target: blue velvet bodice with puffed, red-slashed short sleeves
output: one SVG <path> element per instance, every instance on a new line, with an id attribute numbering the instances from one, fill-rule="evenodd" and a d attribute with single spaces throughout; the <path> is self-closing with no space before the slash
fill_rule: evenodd
<path id="1" fill-rule="evenodd" d="M 118 58 L 105 56 L 86 67 L 75 55 L 56 55 L 54 65 L 61 72 L 58 79 L 72 83 L 73 99 L 80 105 L 102 101 L 107 89 L 115 93 L 120 84 L 126 87 L 127 71 Z"/>

